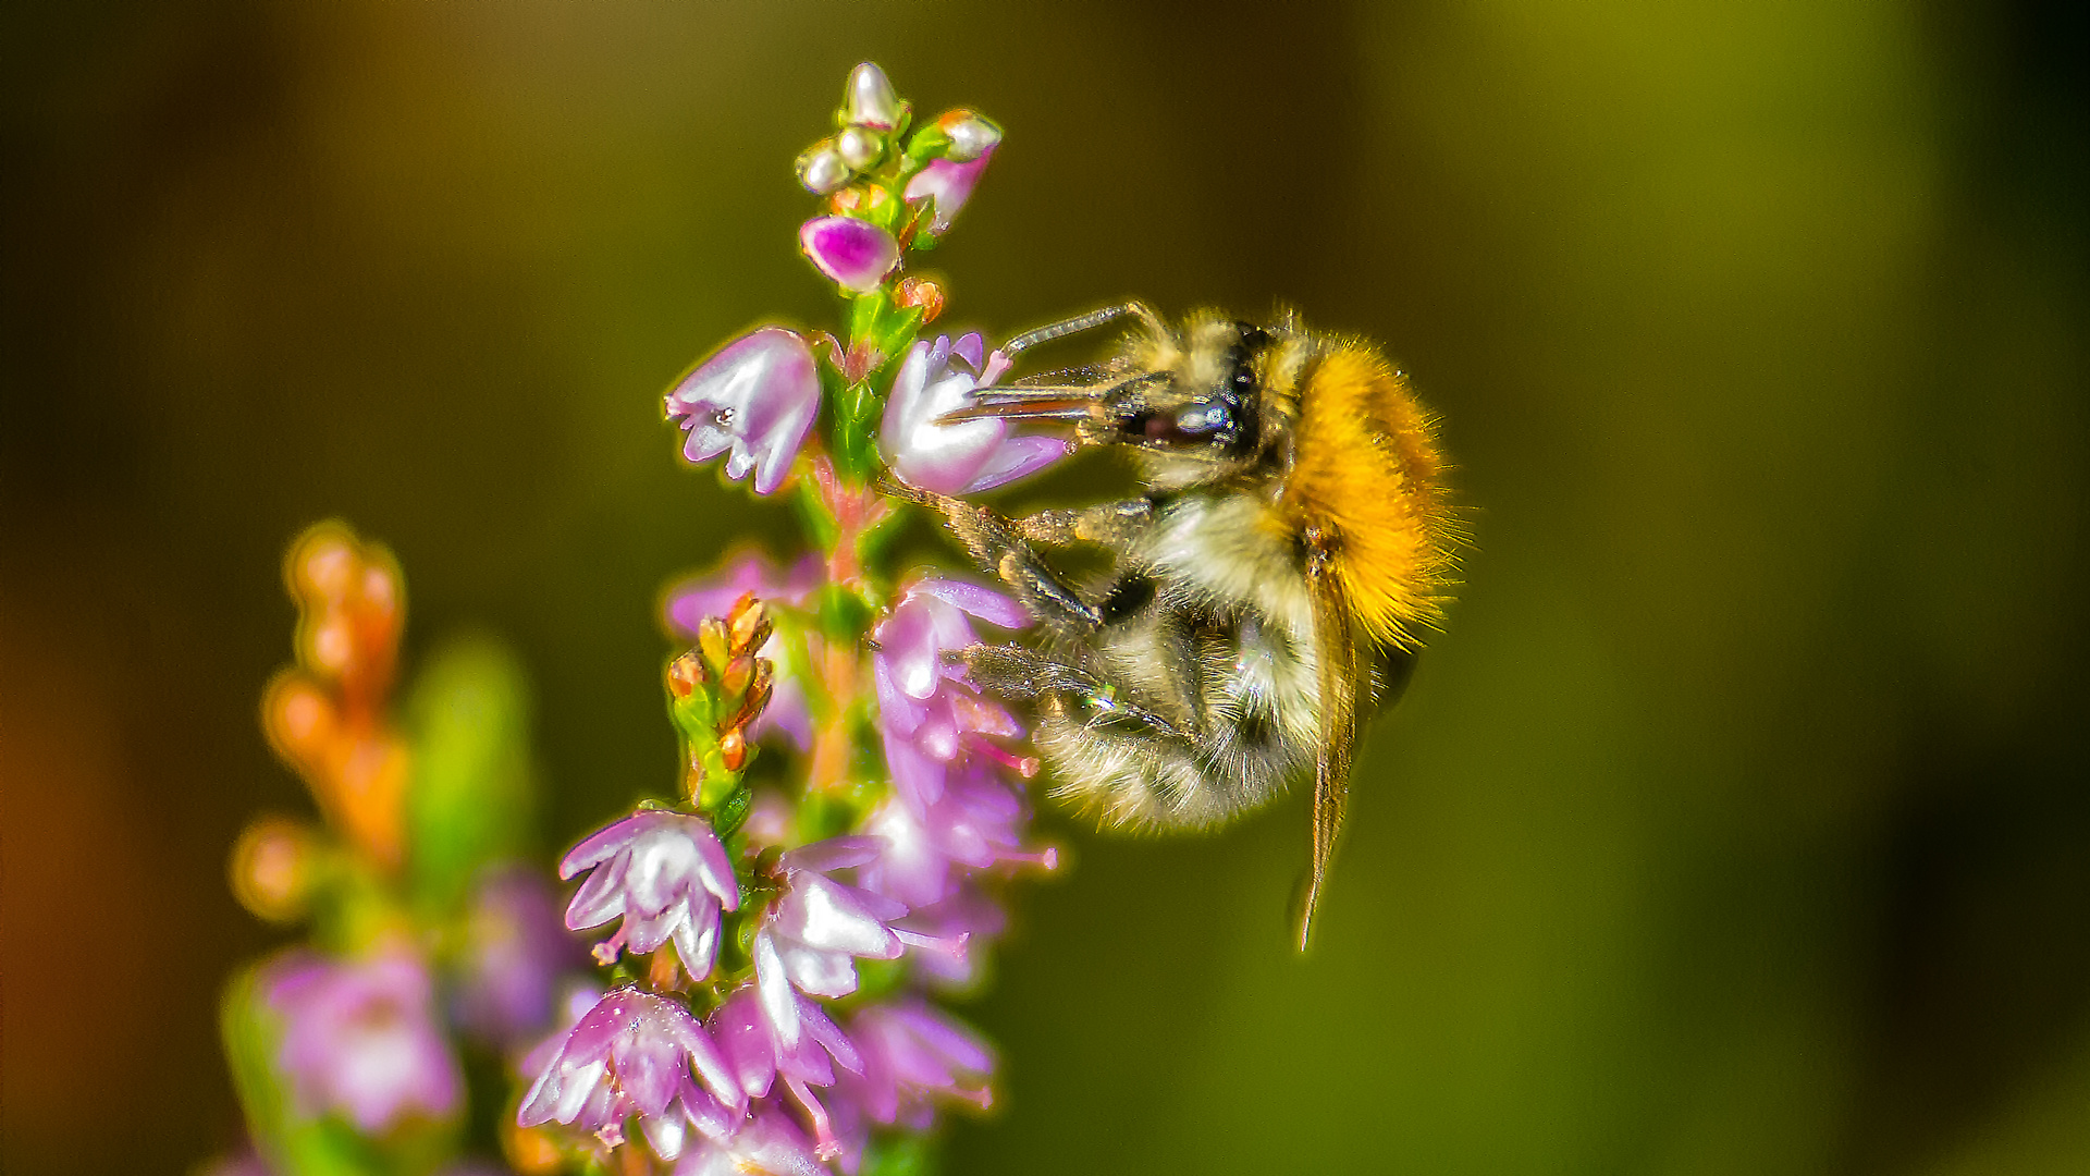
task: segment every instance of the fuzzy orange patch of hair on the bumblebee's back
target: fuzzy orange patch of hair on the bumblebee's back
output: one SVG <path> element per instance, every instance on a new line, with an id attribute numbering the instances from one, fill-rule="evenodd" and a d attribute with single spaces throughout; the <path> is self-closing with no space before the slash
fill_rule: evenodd
<path id="1" fill-rule="evenodd" d="M 1313 536 L 1358 624 L 1415 647 L 1442 613 L 1450 536 L 1430 416 L 1375 354 L 1323 356 L 1300 387 L 1285 513 Z"/>

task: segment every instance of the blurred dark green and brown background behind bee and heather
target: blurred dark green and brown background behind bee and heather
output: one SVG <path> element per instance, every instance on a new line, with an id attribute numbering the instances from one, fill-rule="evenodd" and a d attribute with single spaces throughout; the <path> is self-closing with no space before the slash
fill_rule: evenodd
<path id="1" fill-rule="evenodd" d="M 859 59 L 1007 128 L 949 322 L 1369 333 L 1476 536 L 1310 958 L 1298 797 L 1051 818 L 951 1174 L 2090 1170 L 2077 8 L 79 0 L 0 10 L 6 1172 L 236 1138 L 307 521 L 514 642 L 554 839 L 665 785 L 656 590 L 786 523 L 656 395 L 832 320 Z"/>

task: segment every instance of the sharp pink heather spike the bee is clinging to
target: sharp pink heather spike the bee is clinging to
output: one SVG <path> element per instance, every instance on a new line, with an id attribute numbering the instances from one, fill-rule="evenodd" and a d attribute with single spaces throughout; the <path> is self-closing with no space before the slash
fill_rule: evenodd
<path id="1" fill-rule="evenodd" d="M 1066 446 L 947 421 L 1009 362 L 980 335 L 920 337 L 943 287 L 903 272 L 999 130 L 970 111 L 913 126 L 874 65 L 836 123 L 798 159 L 826 197 L 800 247 L 849 299 L 846 333 L 759 326 L 667 393 L 683 456 L 796 488 L 815 550 L 742 550 L 667 594 L 688 770 L 560 862 L 566 925 L 610 971 L 520 1063 L 516 1132 L 554 1163 L 855 1174 L 993 1099 L 993 1053 L 934 998 L 1005 927 L 1003 879 L 1055 856 L 1028 841 L 1026 732 L 955 655 L 1030 617 L 978 584 L 880 573 L 899 513 L 878 481 L 974 494 Z"/>

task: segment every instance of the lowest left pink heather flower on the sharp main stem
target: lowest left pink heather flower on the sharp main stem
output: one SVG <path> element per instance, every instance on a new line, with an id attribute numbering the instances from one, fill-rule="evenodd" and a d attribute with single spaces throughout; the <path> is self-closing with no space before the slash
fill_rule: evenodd
<path id="1" fill-rule="evenodd" d="M 621 1132 L 627 1117 L 660 1117 L 692 1096 L 717 1099 L 736 1115 L 746 1107 L 725 1055 L 688 1009 L 637 988 L 614 988 L 566 1034 L 522 1096 L 516 1124 Z"/>

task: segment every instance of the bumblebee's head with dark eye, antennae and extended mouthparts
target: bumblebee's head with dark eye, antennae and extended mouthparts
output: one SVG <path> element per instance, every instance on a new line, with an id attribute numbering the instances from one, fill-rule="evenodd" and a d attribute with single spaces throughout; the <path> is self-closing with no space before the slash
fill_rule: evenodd
<path id="1" fill-rule="evenodd" d="M 1137 314 L 1141 329 L 1108 364 L 1081 368 L 1091 379 L 982 389 L 947 421 L 1066 421 L 1083 446 L 1135 450 L 1158 488 L 1237 477 L 1285 454 L 1292 398 L 1273 393 L 1271 379 L 1287 329 L 1198 314 L 1170 331 L 1143 308 L 1122 314 Z"/>

